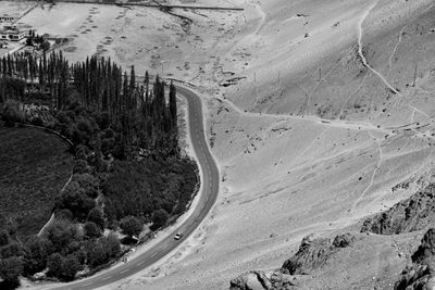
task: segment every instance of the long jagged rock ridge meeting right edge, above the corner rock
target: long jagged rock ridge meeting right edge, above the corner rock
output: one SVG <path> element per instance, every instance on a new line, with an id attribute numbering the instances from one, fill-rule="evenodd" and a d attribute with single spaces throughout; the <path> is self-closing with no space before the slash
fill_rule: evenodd
<path id="1" fill-rule="evenodd" d="M 361 231 L 398 235 L 421 230 L 434 224 L 435 184 L 431 184 L 411 198 L 395 204 L 388 211 L 366 219 Z"/>

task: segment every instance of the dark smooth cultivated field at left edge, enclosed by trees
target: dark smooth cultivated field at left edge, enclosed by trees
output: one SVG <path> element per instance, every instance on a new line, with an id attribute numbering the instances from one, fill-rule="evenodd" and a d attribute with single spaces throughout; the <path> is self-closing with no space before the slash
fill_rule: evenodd
<path id="1" fill-rule="evenodd" d="M 15 220 L 18 235 L 35 235 L 71 176 L 69 146 L 34 128 L 0 124 L 0 224 Z"/>

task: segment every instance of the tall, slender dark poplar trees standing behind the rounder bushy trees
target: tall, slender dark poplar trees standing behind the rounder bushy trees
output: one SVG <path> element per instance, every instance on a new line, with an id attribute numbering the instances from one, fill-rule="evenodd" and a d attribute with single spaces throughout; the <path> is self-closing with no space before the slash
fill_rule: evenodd
<path id="1" fill-rule="evenodd" d="M 0 102 L 39 93 L 50 100 L 51 110 L 60 111 L 78 98 L 86 109 L 121 125 L 126 143 L 176 150 L 175 86 L 171 84 L 166 93 L 159 76 L 152 84 L 148 72 L 140 84 L 136 78 L 134 66 L 127 74 L 110 58 L 91 56 L 70 65 L 62 52 L 39 59 L 8 55 L 0 61 Z"/>

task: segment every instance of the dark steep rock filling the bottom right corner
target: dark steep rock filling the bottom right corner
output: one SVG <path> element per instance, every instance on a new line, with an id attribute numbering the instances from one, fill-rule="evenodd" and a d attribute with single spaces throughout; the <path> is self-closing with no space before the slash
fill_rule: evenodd
<path id="1" fill-rule="evenodd" d="M 435 289 L 435 229 L 424 235 L 412 255 L 412 265 L 403 269 L 395 290 Z"/>

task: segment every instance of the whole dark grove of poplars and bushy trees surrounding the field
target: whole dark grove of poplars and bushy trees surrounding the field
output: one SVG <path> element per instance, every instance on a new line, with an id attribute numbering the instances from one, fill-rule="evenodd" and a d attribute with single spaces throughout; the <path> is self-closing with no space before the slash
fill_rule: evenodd
<path id="1" fill-rule="evenodd" d="M 127 74 L 97 56 L 73 65 L 62 52 L 0 60 L 2 119 L 59 133 L 75 154 L 72 180 L 53 201 L 54 222 L 41 236 L 18 237 L 0 226 L 3 281 L 45 269 L 72 280 L 122 252 L 104 229 L 138 237 L 145 224 L 157 230 L 186 211 L 198 180 L 196 165 L 178 149 L 176 88 L 148 73 L 137 78 L 134 66 Z M 48 113 L 26 115 L 20 104 L 29 102 Z"/>

